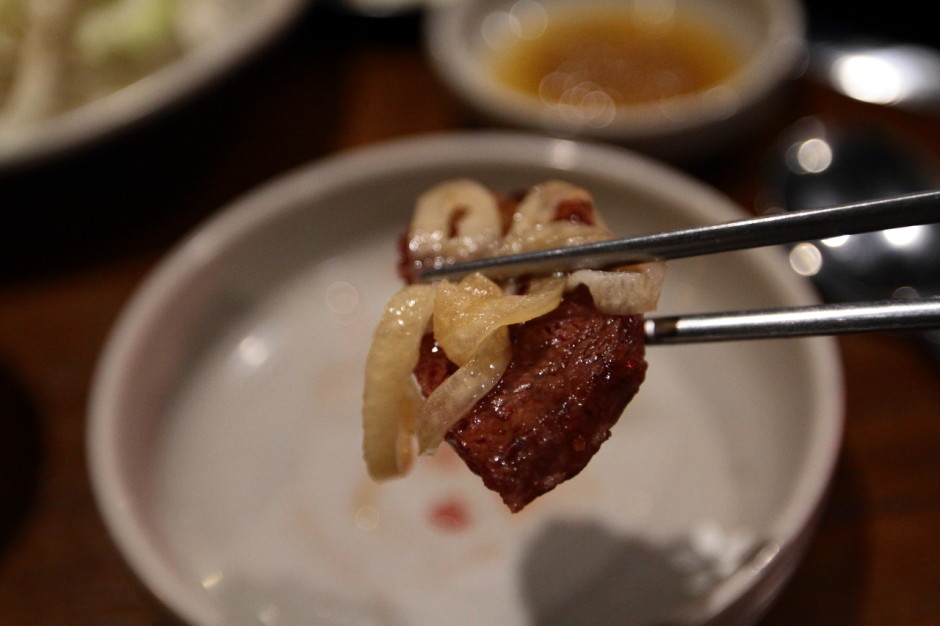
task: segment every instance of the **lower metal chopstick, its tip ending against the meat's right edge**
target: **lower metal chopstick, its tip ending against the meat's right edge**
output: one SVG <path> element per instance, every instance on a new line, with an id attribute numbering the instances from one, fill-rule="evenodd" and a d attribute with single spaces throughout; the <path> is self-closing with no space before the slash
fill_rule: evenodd
<path id="1" fill-rule="evenodd" d="M 940 328 L 940 297 L 650 317 L 651 345 Z"/>

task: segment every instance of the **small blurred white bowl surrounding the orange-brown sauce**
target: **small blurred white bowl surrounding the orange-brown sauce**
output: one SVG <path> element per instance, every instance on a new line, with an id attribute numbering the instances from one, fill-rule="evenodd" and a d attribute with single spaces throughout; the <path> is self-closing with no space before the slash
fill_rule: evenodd
<path id="1" fill-rule="evenodd" d="M 494 32 L 529 36 L 530 22 L 544 25 L 559 10 L 598 5 L 694 16 L 689 21 L 709 25 L 733 45 L 740 67 L 706 91 L 619 106 L 609 116 L 591 119 L 546 105 L 494 76 L 493 59 L 506 41 Z M 484 120 L 602 139 L 676 161 L 713 154 L 772 119 L 784 88 L 802 68 L 806 47 L 799 0 L 465 0 L 433 4 L 425 35 L 442 80 Z"/>

